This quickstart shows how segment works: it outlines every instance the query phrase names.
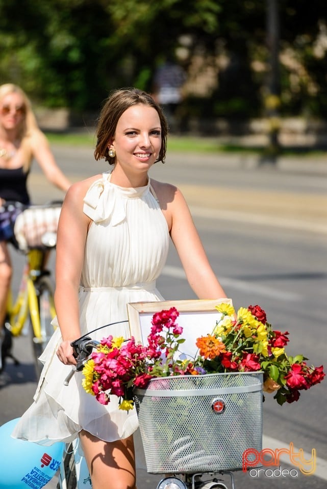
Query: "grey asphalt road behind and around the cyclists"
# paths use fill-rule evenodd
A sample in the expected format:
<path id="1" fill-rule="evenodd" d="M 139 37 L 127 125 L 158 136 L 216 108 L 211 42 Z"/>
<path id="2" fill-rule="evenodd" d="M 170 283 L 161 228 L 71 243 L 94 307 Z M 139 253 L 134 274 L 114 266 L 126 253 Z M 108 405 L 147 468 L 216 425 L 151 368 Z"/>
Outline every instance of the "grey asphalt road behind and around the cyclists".
<path id="1" fill-rule="evenodd" d="M 53 149 L 73 181 L 107 170 L 104 162 L 94 162 L 92 149 Z M 293 162 L 275 169 L 258 167 L 250 158 L 168 153 L 166 164 L 156 164 L 151 176 L 182 189 L 210 262 L 234 305 L 260 304 L 275 329 L 290 332 L 289 354 L 305 354 L 309 363 L 324 364 L 327 369 L 326 171 L 323 165 L 308 167 L 309 163 Z M 37 169 L 31 176 L 31 189 L 39 203 L 61 196 Z M 15 255 L 15 260 L 19 271 L 23 257 Z M 15 273 L 15 287 L 17 280 Z M 173 247 L 158 288 L 167 300 L 195 298 Z M 15 340 L 15 351 L 22 364 L 9 365 L 0 379 L 1 424 L 23 413 L 36 387 L 29 339 Z M 236 473 L 236 487 L 326 487 L 326 394 L 325 380 L 302 392 L 297 403 L 279 406 L 266 396 L 263 405 L 265 448 L 288 450 L 293 443 L 306 459 L 316 450 L 314 475 L 304 476 L 299 470 L 297 477 Z M 137 446 L 139 453 L 139 443 Z M 280 460 L 282 469 L 295 468 L 287 452 Z M 158 480 L 140 468 L 138 478 L 138 486 L 144 489 L 155 487 Z"/>

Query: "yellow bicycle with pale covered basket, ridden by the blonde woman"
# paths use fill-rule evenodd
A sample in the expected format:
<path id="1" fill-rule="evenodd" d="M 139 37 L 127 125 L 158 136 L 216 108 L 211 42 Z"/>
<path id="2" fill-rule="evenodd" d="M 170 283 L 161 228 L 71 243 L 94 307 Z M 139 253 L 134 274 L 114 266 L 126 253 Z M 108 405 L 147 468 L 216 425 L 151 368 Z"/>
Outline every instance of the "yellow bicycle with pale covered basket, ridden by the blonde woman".
<path id="1" fill-rule="evenodd" d="M 10 242 L 26 256 L 26 263 L 16 297 L 12 289 L 9 291 L 3 367 L 6 357 L 11 358 L 16 365 L 19 363 L 11 353 L 12 337 L 30 331 L 37 377 L 42 370 L 38 357 L 54 332 L 51 325 L 56 315 L 54 292 L 51 271 L 46 269 L 46 264 L 49 253 L 56 248 L 61 204 L 56 201 L 45 205 L 20 206 L 15 222 L 12 223 L 14 237 Z M 10 205 L 16 204 L 6 203 L 6 206 Z"/>

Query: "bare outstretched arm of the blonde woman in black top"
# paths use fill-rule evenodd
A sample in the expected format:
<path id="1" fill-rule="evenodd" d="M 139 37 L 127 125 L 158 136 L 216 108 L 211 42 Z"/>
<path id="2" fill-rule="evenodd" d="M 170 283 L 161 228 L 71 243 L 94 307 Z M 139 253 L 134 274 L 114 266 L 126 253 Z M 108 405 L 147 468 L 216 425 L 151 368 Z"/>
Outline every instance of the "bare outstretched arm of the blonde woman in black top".
<path id="1" fill-rule="evenodd" d="M 31 136 L 32 153 L 49 182 L 67 192 L 71 183 L 56 164 L 48 140 L 42 131 L 35 131 Z"/>

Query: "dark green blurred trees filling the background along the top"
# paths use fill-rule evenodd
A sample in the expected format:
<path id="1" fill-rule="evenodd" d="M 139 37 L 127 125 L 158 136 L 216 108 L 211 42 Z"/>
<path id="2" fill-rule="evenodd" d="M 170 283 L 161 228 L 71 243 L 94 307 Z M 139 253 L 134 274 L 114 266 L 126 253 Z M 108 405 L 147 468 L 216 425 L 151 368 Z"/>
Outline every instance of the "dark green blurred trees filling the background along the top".
<path id="1" fill-rule="evenodd" d="M 0 0 L 0 83 L 17 83 L 49 107 L 97 111 L 112 89 L 152 91 L 156 66 L 182 46 L 186 70 L 195 55 L 212 66 L 226 60 L 215 89 L 185 100 L 186 117 L 258 116 L 268 73 L 268 1 Z M 306 0 L 277 3 L 287 53 L 281 112 L 325 116 L 325 2 L 315 0 L 311 9 Z"/>

